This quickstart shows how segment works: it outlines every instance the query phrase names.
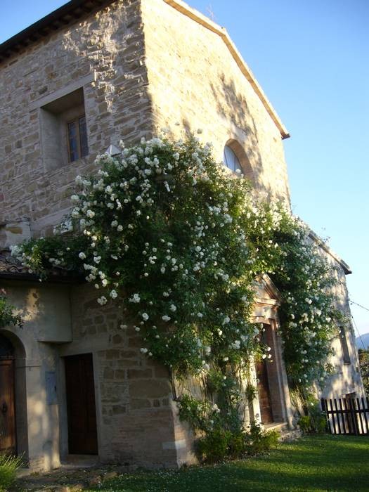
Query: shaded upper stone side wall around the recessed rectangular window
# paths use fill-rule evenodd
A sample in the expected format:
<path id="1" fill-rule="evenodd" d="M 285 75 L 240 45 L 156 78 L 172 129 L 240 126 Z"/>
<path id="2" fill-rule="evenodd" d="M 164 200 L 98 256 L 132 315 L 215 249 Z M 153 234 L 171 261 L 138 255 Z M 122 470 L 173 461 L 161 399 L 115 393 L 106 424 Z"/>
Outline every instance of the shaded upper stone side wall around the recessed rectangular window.
<path id="1" fill-rule="evenodd" d="M 142 27 L 141 2 L 117 0 L 1 63 L 0 224 L 27 217 L 34 235 L 51 233 L 77 174 L 93 172 L 96 155 L 120 138 L 150 134 Z M 79 84 L 89 156 L 47 169 L 40 107 Z"/>

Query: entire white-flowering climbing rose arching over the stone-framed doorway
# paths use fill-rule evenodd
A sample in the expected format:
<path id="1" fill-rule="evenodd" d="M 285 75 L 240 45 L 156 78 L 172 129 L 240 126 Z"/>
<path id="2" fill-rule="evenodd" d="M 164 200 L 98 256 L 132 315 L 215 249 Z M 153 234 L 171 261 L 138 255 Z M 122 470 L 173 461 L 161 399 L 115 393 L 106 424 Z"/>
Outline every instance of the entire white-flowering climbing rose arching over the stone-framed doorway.
<path id="1" fill-rule="evenodd" d="M 221 415 L 240 407 L 250 356 L 268 357 L 252 323 L 254 282 L 267 273 L 281 294 L 292 384 L 325 377 L 334 276 L 282 203 L 254 202 L 247 180 L 214 162 L 211 145 L 193 136 L 141 141 L 122 155 L 98 156 L 96 168 L 77 176 L 74 232 L 14 248 L 23 264 L 42 277 L 56 267 L 83 273 L 99 304 L 123 304 L 143 336 L 141 352 L 176 377 L 202 378 Z"/>

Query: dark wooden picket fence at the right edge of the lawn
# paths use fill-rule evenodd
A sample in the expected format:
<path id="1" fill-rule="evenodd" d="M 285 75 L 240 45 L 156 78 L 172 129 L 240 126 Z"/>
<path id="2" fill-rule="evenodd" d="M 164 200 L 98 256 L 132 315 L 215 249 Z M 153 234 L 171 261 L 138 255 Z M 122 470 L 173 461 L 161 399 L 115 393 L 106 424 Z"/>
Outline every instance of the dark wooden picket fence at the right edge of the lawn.
<path id="1" fill-rule="evenodd" d="M 369 399 L 322 399 L 330 434 L 369 435 Z"/>

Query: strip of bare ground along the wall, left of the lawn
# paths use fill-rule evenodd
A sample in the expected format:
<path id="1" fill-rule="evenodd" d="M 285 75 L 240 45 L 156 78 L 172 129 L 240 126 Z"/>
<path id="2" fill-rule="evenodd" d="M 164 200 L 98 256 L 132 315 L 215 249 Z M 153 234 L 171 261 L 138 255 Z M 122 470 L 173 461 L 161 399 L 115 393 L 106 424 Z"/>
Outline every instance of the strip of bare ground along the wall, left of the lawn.
<path id="1" fill-rule="evenodd" d="M 64 465 L 47 473 L 18 474 L 11 492 L 78 492 L 102 484 L 120 474 L 134 472 L 137 467 L 109 465 L 105 467 L 76 467 Z"/>

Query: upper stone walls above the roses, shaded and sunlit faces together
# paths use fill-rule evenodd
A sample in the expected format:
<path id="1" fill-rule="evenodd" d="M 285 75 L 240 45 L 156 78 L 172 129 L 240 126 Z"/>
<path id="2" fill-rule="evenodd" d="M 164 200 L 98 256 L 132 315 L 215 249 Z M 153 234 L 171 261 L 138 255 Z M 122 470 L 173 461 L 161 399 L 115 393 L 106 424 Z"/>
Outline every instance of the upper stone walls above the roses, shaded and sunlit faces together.
<path id="1" fill-rule="evenodd" d="M 89 155 L 54 169 L 41 108 L 81 87 Z M 166 1 L 114 1 L 4 61 L 0 108 L 0 224 L 27 217 L 33 235 L 63 219 L 98 153 L 162 127 L 201 128 L 219 161 L 238 141 L 258 192 L 289 196 L 280 131 L 228 47 Z"/>

